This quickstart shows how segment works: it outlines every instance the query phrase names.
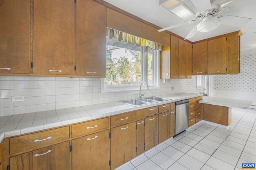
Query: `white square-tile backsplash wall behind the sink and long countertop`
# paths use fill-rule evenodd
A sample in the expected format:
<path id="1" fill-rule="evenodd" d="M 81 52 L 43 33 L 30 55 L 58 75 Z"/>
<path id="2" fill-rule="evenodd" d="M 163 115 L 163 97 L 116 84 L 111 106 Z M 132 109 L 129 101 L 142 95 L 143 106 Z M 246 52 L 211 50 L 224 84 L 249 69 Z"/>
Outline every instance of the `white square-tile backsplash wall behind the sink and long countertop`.
<path id="1" fill-rule="evenodd" d="M 143 91 L 145 96 L 182 92 L 182 80 L 160 81 L 160 89 Z M 0 116 L 136 99 L 138 94 L 100 93 L 100 78 L 0 76 Z M 12 96 L 25 98 L 12 102 Z"/>

